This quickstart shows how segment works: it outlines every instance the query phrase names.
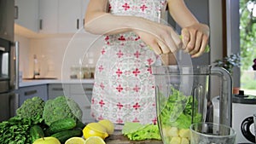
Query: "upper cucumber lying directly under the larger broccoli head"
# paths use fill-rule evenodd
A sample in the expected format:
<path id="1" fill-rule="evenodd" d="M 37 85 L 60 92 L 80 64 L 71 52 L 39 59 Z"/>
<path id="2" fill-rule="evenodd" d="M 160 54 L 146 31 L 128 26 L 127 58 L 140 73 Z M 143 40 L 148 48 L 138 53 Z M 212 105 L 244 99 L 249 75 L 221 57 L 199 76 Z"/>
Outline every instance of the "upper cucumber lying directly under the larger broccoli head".
<path id="1" fill-rule="evenodd" d="M 72 130 L 76 126 L 76 120 L 73 118 L 63 118 L 55 121 L 49 125 L 49 128 L 45 130 L 46 135 L 52 135 L 64 130 Z"/>

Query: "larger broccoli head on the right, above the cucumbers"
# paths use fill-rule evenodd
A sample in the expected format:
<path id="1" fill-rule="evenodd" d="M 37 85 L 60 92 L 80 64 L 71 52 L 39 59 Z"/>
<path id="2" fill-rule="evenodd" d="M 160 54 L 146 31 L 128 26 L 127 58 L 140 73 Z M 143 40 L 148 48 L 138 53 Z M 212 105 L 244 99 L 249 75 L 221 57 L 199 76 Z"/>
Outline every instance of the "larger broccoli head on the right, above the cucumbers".
<path id="1" fill-rule="evenodd" d="M 81 121 L 82 114 L 82 110 L 75 101 L 61 95 L 45 102 L 43 118 L 44 123 L 50 125 L 62 118 L 73 118 L 76 121 Z"/>

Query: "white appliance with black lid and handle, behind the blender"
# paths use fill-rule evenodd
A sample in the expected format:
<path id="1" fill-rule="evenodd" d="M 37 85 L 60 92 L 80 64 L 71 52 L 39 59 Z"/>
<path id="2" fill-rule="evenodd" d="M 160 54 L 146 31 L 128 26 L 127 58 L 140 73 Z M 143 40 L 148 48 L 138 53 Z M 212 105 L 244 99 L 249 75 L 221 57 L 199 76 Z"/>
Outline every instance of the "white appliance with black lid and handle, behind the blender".
<path id="1" fill-rule="evenodd" d="M 255 142 L 253 114 L 256 113 L 256 96 L 244 95 L 244 91 L 239 90 L 239 94 L 232 97 L 232 127 L 236 130 L 237 143 Z M 214 107 L 214 119 L 218 121 L 219 96 L 212 100 Z"/>

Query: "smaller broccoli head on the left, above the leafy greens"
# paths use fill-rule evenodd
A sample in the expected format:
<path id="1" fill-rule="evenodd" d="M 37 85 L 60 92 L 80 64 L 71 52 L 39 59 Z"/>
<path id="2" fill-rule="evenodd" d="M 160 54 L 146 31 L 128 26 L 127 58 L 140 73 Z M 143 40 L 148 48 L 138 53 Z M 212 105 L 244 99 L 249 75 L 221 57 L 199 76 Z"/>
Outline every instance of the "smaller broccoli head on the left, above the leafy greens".
<path id="1" fill-rule="evenodd" d="M 26 99 L 21 107 L 16 110 L 16 114 L 20 118 L 31 118 L 35 123 L 43 121 L 44 100 L 38 96 Z"/>

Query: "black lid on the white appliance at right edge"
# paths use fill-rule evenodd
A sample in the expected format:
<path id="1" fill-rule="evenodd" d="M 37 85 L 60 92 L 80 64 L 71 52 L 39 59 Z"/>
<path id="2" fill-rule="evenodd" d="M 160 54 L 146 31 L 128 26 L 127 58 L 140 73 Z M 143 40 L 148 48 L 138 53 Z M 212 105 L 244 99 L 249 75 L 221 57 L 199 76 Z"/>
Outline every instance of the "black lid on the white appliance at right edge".
<path id="1" fill-rule="evenodd" d="M 239 90 L 239 94 L 233 95 L 234 103 L 256 104 L 256 95 L 244 95 L 243 90 Z"/>

